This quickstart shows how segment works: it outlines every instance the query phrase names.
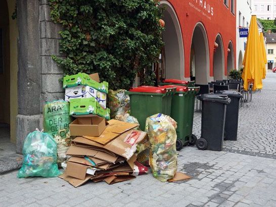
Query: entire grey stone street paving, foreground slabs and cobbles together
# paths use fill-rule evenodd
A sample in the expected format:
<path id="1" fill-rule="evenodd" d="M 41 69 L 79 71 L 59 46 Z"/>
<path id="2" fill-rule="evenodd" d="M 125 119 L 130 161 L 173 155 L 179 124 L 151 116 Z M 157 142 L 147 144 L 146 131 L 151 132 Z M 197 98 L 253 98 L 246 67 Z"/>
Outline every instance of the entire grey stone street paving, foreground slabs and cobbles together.
<path id="1" fill-rule="evenodd" d="M 261 93 L 241 109 L 238 141 L 226 141 L 220 152 L 179 152 L 178 171 L 190 180 L 162 183 L 149 173 L 74 188 L 59 178 L 17 179 L 13 171 L 0 175 L 0 206 L 276 206 L 275 84 L 276 74 L 268 74 Z M 199 135 L 199 113 L 195 122 Z"/>

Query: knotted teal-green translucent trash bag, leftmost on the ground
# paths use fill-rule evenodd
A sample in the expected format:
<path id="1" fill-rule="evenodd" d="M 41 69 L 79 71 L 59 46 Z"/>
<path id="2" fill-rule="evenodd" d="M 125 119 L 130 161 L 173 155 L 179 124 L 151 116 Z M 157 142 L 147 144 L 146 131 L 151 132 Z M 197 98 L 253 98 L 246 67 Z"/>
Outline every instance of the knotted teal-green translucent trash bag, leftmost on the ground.
<path id="1" fill-rule="evenodd" d="M 24 141 L 23 157 L 18 178 L 57 177 L 61 174 L 57 165 L 57 143 L 48 133 L 29 133 Z"/>

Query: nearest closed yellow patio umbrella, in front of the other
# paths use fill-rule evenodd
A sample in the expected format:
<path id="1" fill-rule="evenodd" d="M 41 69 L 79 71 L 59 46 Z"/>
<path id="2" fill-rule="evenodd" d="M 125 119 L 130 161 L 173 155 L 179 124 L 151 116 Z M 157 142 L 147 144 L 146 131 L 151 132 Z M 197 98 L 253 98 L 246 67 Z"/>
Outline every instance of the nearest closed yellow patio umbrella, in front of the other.
<path id="1" fill-rule="evenodd" d="M 249 34 L 247 37 L 246 50 L 243 60 L 244 89 L 248 90 L 248 83 L 253 82 L 253 90 L 262 88 L 263 56 L 261 51 L 260 36 L 257 26 L 256 15 L 251 17 Z"/>

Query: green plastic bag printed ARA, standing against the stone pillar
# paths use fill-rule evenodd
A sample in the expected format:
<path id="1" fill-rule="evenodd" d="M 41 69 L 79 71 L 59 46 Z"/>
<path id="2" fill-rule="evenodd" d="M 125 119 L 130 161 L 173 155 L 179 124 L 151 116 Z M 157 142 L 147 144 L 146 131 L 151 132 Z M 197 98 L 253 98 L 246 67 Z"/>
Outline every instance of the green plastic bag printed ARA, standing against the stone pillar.
<path id="1" fill-rule="evenodd" d="M 44 132 L 55 137 L 62 129 L 69 133 L 69 124 L 73 121 L 69 115 L 69 102 L 64 100 L 55 100 L 47 102 L 43 109 L 43 127 Z M 69 133 L 70 135 L 70 133 Z"/>

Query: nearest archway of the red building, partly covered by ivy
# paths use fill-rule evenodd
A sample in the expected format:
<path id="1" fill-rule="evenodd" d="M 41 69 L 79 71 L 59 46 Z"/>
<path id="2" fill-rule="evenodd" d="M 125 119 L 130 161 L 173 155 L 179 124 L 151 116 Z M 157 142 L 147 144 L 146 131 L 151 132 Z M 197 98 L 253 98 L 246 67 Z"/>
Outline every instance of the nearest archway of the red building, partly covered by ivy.
<path id="1" fill-rule="evenodd" d="M 184 78 L 184 48 L 182 33 L 177 15 L 172 5 L 167 1 L 160 1 L 161 6 L 165 6 L 162 19 L 165 21 L 165 30 L 162 38 L 165 46 L 162 53 L 164 64 L 162 71 L 166 79 Z"/>

